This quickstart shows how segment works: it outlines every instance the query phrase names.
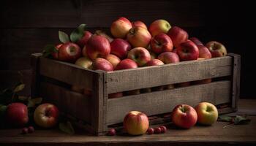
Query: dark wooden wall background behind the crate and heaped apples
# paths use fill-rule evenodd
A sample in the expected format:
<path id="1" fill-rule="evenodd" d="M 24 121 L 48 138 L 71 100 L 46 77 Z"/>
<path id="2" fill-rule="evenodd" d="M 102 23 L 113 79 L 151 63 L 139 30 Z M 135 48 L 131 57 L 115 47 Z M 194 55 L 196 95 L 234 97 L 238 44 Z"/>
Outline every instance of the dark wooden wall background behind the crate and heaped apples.
<path id="1" fill-rule="evenodd" d="M 42 52 L 46 44 L 59 42 L 58 31 L 70 33 L 80 23 L 94 31 L 107 29 L 120 16 L 142 20 L 157 19 L 180 26 L 190 37 L 203 42 L 222 42 L 228 52 L 241 55 L 241 98 L 256 98 L 253 4 L 249 1 L 203 0 L 23 0 L 1 1 L 0 89 L 18 82 L 23 73 L 24 93 L 30 93 L 30 54 Z M 252 36 L 252 37 L 250 37 Z"/>

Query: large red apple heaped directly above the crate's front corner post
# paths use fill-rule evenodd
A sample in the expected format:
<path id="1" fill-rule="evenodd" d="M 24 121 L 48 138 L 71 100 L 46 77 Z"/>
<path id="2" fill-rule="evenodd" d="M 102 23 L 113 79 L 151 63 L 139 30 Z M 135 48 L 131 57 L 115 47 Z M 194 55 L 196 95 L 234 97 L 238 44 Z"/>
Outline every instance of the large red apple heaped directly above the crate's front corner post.
<path id="1" fill-rule="evenodd" d="M 92 36 L 86 44 L 86 54 L 94 60 L 96 58 L 104 58 L 110 54 L 110 43 L 108 39 L 102 36 Z"/>

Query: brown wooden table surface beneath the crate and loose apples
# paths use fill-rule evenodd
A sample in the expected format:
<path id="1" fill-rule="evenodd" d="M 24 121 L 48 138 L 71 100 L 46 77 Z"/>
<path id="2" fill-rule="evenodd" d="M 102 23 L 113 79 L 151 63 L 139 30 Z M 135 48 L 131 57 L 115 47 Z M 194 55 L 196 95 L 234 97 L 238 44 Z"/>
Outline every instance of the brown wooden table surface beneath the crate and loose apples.
<path id="1" fill-rule="evenodd" d="M 217 122 L 214 126 L 194 126 L 189 130 L 168 127 L 165 134 L 138 137 L 119 135 L 94 137 L 85 133 L 64 134 L 59 130 L 37 130 L 22 135 L 20 129 L 0 130 L 0 145 L 256 145 L 256 100 L 241 99 L 235 114 L 247 114 L 248 125 L 229 126 Z"/>

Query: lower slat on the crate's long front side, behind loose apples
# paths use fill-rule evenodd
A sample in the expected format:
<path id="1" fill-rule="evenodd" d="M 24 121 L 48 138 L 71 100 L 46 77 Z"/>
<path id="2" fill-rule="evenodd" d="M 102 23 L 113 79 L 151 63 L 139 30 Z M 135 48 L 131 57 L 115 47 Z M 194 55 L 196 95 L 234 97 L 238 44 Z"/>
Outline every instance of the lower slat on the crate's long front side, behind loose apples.
<path id="1" fill-rule="evenodd" d="M 108 99 L 108 125 L 122 122 L 124 115 L 132 110 L 157 115 L 171 112 L 177 104 L 195 106 L 201 101 L 213 104 L 230 102 L 230 81 L 211 82 L 205 85 L 192 85 L 166 91 L 143 93 L 137 96 L 124 96 Z"/>

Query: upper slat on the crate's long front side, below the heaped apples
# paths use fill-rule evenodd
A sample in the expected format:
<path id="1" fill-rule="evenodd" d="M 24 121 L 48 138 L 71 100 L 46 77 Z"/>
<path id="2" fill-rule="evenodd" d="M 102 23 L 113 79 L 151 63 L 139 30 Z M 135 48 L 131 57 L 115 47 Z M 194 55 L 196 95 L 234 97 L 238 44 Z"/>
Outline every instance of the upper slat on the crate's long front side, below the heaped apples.
<path id="1" fill-rule="evenodd" d="M 108 72 L 108 93 L 224 77 L 231 75 L 231 70 L 232 58 L 225 56 L 203 61 L 184 61 L 177 64 Z"/>

